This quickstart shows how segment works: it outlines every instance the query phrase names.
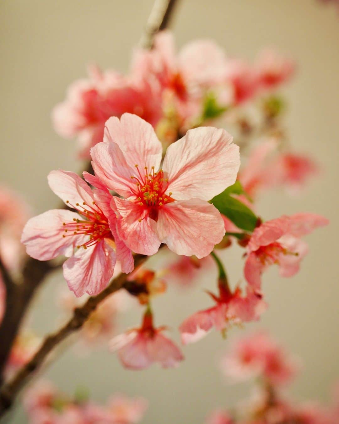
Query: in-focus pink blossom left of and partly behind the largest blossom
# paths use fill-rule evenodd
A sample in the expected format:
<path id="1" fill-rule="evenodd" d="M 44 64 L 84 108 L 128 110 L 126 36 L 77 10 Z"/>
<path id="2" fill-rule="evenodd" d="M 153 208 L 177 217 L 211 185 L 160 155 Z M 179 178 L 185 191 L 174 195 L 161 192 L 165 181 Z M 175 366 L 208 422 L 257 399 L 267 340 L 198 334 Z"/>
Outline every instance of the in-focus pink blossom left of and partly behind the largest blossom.
<path id="1" fill-rule="evenodd" d="M 27 253 L 39 260 L 69 257 L 63 275 L 77 297 L 102 291 L 113 276 L 116 260 L 122 272 L 131 272 L 132 252 L 116 232 L 108 190 L 92 191 L 75 173 L 63 170 L 52 171 L 48 182 L 77 212 L 54 209 L 31 218 L 22 233 Z"/>

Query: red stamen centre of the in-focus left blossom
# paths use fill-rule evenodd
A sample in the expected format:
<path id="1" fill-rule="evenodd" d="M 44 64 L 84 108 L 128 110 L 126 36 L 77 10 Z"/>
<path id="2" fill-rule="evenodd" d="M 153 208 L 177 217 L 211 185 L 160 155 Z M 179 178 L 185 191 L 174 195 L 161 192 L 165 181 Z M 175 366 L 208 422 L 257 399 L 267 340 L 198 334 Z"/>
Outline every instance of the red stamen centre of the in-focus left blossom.
<path id="1" fill-rule="evenodd" d="M 66 203 L 78 212 L 80 218 L 73 218 L 73 222 L 63 223 L 64 232 L 66 233 L 63 234 L 63 237 L 80 234 L 88 235 L 89 240 L 82 245 L 77 245 L 78 249 L 80 249 L 81 246 L 84 249 L 87 249 L 104 238 L 110 239 L 114 242 L 114 237 L 110 231 L 108 220 L 95 201 L 92 202 L 92 205 L 88 205 L 86 202 L 83 202 L 82 205 L 77 203 L 73 206 L 68 200 Z"/>

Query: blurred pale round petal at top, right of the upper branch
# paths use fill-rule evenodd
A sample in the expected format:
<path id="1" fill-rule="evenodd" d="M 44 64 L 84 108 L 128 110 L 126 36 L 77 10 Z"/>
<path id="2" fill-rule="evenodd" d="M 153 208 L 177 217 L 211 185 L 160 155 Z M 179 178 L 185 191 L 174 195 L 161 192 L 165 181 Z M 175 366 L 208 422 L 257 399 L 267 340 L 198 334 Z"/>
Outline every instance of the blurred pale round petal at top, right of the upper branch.
<path id="1" fill-rule="evenodd" d="M 216 86 L 225 74 L 225 54 L 212 40 L 186 44 L 179 53 L 178 62 L 188 84 Z"/>

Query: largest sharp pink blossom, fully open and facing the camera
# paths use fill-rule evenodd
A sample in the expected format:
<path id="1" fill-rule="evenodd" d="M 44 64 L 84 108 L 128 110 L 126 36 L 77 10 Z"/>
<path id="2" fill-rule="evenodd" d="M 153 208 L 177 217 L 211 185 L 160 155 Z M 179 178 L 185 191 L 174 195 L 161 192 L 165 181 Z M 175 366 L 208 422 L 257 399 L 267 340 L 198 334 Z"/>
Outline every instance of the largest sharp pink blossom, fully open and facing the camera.
<path id="1" fill-rule="evenodd" d="M 124 197 L 114 196 L 111 206 L 132 251 L 152 255 L 165 243 L 176 254 L 202 258 L 223 238 L 220 212 L 207 201 L 237 177 L 239 148 L 225 130 L 187 131 L 159 169 L 162 147 L 152 126 L 124 114 L 107 121 L 104 142 L 91 156 L 96 176 Z"/>

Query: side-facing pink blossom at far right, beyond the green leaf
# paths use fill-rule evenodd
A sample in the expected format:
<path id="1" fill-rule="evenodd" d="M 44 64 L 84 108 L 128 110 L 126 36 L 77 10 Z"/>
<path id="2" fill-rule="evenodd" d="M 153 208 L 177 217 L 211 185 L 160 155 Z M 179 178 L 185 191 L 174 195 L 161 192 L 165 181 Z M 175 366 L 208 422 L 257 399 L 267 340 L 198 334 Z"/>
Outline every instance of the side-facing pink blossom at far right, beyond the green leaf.
<path id="1" fill-rule="evenodd" d="M 299 237 L 317 227 L 328 225 L 328 219 L 312 213 L 282 216 L 257 227 L 247 245 L 244 275 L 254 290 L 261 290 L 261 275 L 267 266 L 278 264 L 280 275 L 293 276 L 307 254 L 307 244 Z"/>

